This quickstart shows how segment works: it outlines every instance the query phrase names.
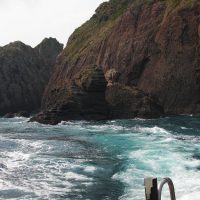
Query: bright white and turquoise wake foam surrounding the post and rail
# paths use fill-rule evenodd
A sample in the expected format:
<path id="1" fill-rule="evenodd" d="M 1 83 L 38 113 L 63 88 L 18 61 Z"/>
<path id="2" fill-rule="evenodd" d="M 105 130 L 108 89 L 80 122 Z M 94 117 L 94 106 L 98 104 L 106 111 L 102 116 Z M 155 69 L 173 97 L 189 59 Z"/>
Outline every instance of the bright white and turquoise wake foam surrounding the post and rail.
<path id="1" fill-rule="evenodd" d="M 127 165 L 123 172 L 113 175 L 114 179 L 120 180 L 126 185 L 126 195 L 120 199 L 141 199 L 141 196 L 144 195 L 143 178 L 148 176 L 159 177 L 159 180 L 166 176 L 171 177 L 175 184 L 178 200 L 200 199 L 200 173 L 196 169 L 200 166 L 200 161 L 188 159 L 191 157 L 190 153 L 182 154 L 177 152 L 176 148 L 169 147 L 169 149 L 166 147 L 162 150 L 162 154 L 165 152 L 164 156 L 158 154 L 159 149 L 156 149 L 156 146 L 154 149 L 143 146 L 140 150 L 129 154 L 130 163 L 132 163 L 131 160 L 134 162 Z M 168 190 L 164 192 L 162 199 L 169 199 Z"/>

